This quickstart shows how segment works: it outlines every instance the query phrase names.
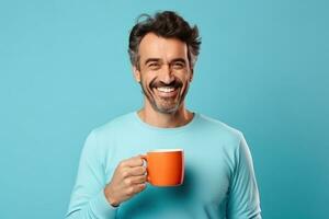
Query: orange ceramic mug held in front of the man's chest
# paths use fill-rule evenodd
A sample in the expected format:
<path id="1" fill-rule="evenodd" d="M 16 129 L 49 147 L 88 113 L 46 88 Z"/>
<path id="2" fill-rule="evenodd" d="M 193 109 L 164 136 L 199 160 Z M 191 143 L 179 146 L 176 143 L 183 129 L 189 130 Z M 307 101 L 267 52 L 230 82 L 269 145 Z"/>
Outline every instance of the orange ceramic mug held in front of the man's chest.
<path id="1" fill-rule="evenodd" d="M 147 182 L 155 186 L 178 186 L 184 180 L 183 149 L 158 149 L 143 155 Z"/>

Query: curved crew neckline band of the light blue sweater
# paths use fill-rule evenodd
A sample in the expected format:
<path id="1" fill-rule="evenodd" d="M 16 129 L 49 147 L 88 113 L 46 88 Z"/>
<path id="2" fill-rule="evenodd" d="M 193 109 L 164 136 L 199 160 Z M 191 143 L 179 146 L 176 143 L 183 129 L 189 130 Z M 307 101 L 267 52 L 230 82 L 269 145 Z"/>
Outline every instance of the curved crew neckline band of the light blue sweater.
<path id="1" fill-rule="evenodd" d="M 193 118 L 185 125 L 183 126 L 179 126 L 179 127 L 173 127 L 173 128 L 161 128 L 161 127 L 157 127 L 157 126 L 152 126 L 148 123 L 145 123 L 139 116 L 138 116 L 138 112 L 135 111 L 133 112 L 133 116 L 135 118 L 135 120 L 143 127 L 149 130 L 156 130 L 156 131 L 162 131 L 162 132 L 178 132 L 178 131 L 183 131 L 183 130 L 188 130 L 190 129 L 193 124 L 196 123 L 196 120 L 198 119 L 200 115 L 198 113 L 193 112 Z"/>

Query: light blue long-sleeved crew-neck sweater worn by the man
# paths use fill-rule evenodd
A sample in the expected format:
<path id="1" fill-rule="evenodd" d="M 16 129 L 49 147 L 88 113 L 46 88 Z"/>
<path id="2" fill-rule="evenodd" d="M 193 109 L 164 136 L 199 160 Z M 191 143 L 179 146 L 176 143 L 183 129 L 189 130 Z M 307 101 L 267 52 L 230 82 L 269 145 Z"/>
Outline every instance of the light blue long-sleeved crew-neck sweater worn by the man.
<path id="1" fill-rule="evenodd" d="M 184 183 L 147 184 L 141 193 L 112 207 L 103 194 L 120 161 L 154 149 L 184 149 Z M 137 113 L 91 131 L 82 150 L 67 219 L 261 218 L 252 159 L 242 134 L 195 113 L 188 125 L 157 128 Z"/>

